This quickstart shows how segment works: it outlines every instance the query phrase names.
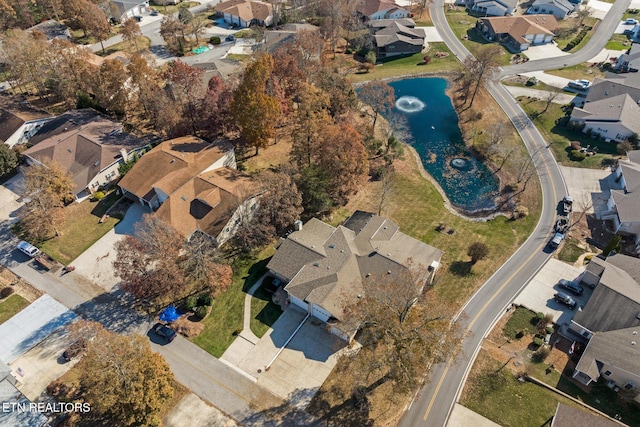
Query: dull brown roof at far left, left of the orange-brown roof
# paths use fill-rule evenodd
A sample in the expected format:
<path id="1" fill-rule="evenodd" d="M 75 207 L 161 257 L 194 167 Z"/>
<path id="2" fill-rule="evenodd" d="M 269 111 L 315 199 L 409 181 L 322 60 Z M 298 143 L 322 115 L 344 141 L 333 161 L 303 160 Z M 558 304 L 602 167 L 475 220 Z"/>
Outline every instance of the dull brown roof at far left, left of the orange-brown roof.
<path id="1" fill-rule="evenodd" d="M 44 128 L 44 127 L 43 127 Z M 40 132 L 38 132 L 40 133 Z M 85 189 L 100 171 L 122 159 L 144 143 L 122 132 L 122 125 L 102 116 L 73 128 L 58 128 L 24 151 L 40 163 L 55 162 L 68 172 L 75 183 L 74 193 Z"/>

